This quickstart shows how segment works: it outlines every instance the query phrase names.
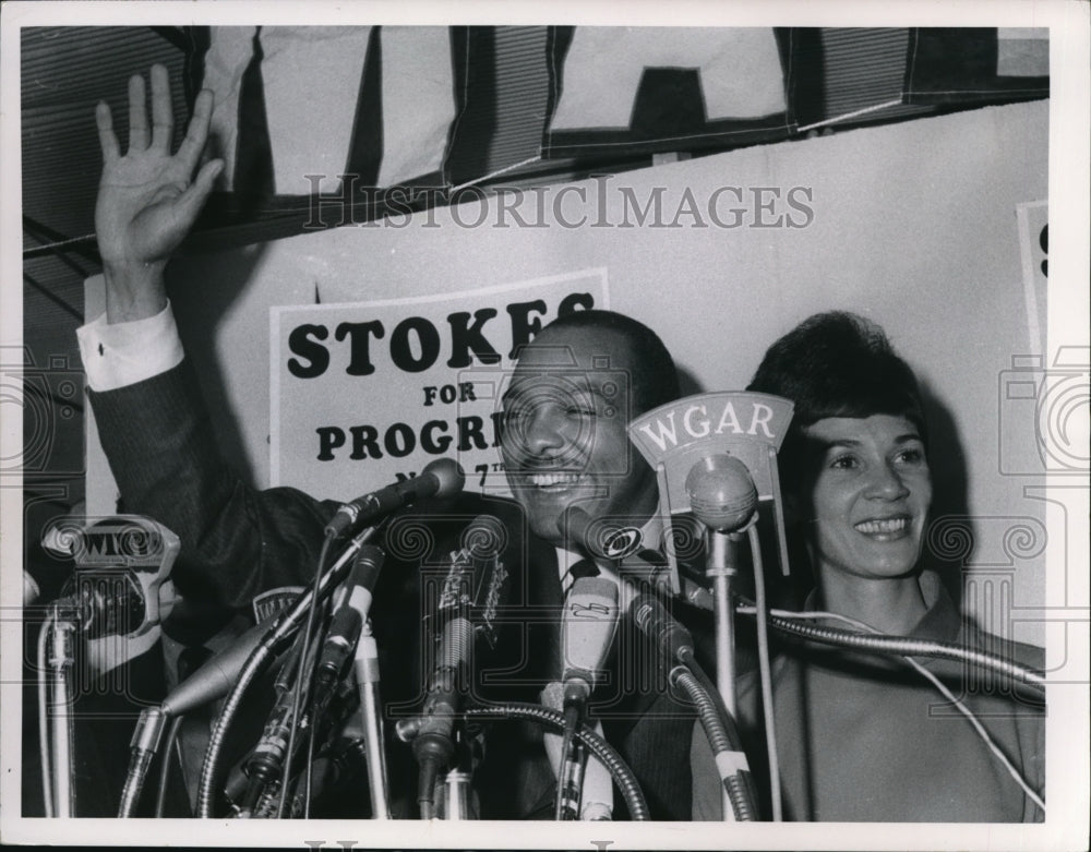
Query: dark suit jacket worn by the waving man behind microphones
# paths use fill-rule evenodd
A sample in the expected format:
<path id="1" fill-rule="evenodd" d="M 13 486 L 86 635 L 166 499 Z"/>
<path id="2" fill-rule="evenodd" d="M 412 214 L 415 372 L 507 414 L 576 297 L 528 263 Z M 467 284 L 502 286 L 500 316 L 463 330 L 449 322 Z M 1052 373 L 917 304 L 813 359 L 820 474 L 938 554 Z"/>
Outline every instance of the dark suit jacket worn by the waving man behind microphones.
<path id="1" fill-rule="evenodd" d="M 291 488 L 247 487 L 220 457 L 188 362 L 145 382 L 89 396 L 124 511 L 155 518 L 181 540 L 173 580 L 187 604 L 166 625 L 171 635 L 201 640 L 230 611 L 249 608 L 255 595 L 313 577 L 322 529 L 339 504 Z M 512 532 L 502 555 L 509 578 L 501 604 L 500 640 L 476 660 L 471 699 L 536 701 L 541 687 L 560 673 L 556 613 L 562 600 L 553 548 L 529 533 L 512 501 L 466 493 L 453 501 L 427 502 L 413 517 L 428 530 L 429 547 L 405 552 L 404 541 L 389 540 L 392 532 L 374 593 L 372 622 L 388 717 L 410 715 L 422 697 L 420 563 L 442 560 L 456 549 L 458 533 L 483 513 L 499 517 Z M 400 529 L 411 523 L 403 521 Z M 599 700 L 607 736 L 635 771 L 652 817 L 688 819 L 692 708 L 669 694 L 658 655 L 627 619 L 615 647 L 611 671 L 616 676 L 604 684 Z M 551 803 L 552 775 L 535 744 L 538 739 L 537 732 L 517 723 L 490 731 L 476 775 L 483 817 L 541 815 Z M 411 802 L 411 768 L 399 760 L 408 751 L 392 742 L 387 755 L 392 794 L 404 784 L 401 792 Z"/>

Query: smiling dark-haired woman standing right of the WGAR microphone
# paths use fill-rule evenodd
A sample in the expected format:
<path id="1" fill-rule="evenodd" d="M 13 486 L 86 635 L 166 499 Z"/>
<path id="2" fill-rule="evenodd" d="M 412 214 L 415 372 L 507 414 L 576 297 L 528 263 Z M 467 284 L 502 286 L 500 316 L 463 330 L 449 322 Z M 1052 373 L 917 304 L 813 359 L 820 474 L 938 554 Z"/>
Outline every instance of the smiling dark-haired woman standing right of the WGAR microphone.
<path id="1" fill-rule="evenodd" d="M 795 405 L 780 454 L 786 526 L 814 574 L 805 608 L 829 614 L 819 623 L 843 627 L 835 616 L 847 616 L 886 634 L 1000 650 L 1041 669 L 1040 649 L 963 623 L 922 565 L 933 494 L 926 423 L 913 372 L 882 328 L 848 313 L 812 316 L 769 348 L 748 389 Z M 899 659 L 801 640 L 777 652 L 772 703 L 787 819 L 1044 817 L 1043 708 L 1010 680 L 928 661 L 958 696 L 945 700 Z M 740 679 L 738 693 L 740 725 L 755 746 L 763 729 L 755 679 Z M 759 751 L 752 747 L 751 760 L 768 790 Z M 719 817 L 709 794 L 716 788 L 702 781 L 714 771 L 710 759 L 695 740 L 698 819 Z"/>

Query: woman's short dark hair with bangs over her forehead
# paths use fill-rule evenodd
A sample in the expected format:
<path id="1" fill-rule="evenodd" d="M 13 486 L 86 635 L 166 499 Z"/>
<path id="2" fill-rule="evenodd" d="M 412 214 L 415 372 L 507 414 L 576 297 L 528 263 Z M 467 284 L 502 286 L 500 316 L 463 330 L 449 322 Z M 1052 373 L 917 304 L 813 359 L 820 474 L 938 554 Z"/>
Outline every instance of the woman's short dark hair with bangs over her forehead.
<path id="1" fill-rule="evenodd" d="M 792 431 L 827 417 L 904 417 L 926 441 L 916 376 L 883 328 L 844 311 L 804 320 L 762 359 L 750 391 L 795 405 Z"/>

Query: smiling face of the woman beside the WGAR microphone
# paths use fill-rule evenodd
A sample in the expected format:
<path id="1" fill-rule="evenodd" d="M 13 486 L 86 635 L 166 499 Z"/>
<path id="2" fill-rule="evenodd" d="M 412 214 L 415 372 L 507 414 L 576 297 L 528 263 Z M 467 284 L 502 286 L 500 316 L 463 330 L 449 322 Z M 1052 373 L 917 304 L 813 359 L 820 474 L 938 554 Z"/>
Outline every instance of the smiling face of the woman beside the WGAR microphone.
<path id="1" fill-rule="evenodd" d="M 804 439 L 817 471 L 807 518 L 819 577 L 911 573 L 932 503 L 916 427 L 890 415 L 831 417 L 805 428 Z"/>

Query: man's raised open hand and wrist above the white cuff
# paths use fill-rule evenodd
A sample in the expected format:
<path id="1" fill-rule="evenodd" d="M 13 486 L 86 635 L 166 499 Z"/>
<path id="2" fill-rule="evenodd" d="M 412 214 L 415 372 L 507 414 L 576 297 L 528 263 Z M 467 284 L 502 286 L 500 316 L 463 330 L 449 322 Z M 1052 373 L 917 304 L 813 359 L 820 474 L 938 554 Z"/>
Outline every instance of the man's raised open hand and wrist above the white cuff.
<path id="1" fill-rule="evenodd" d="M 182 241 L 224 167 L 211 160 L 191 181 L 204 149 L 213 96 L 202 92 L 178 152 L 171 155 L 173 112 L 167 69 L 152 67 L 152 128 L 144 79 L 129 80 L 129 149 L 121 155 L 110 108 L 95 110 L 103 148 L 103 178 L 95 229 L 106 276 L 107 320 L 123 322 L 158 313 L 166 303 L 163 269 Z"/>

